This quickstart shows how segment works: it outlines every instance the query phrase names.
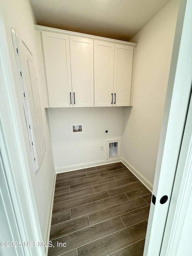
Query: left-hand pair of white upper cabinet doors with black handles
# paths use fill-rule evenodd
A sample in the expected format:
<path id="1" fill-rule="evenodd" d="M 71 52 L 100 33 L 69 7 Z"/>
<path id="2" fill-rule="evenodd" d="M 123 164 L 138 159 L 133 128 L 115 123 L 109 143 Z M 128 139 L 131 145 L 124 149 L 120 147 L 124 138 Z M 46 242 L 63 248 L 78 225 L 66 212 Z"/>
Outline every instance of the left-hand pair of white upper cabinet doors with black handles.
<path id="1" fill-rule="evenodd" d="M 93 107 L 93 40 L 42 31 L 49 107 Z"/>

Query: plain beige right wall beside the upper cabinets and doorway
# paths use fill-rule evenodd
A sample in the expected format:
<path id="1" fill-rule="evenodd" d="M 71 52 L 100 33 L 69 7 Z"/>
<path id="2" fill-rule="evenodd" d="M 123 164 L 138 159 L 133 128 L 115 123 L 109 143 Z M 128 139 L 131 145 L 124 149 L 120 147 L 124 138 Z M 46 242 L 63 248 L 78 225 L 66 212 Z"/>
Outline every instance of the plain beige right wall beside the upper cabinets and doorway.
<path id="1" fill-rule="evenodd" d="M 170 1 L 134 38 L 133 107 L 125 108 L 122 157 L 153 184 L 178 1 Z"/>

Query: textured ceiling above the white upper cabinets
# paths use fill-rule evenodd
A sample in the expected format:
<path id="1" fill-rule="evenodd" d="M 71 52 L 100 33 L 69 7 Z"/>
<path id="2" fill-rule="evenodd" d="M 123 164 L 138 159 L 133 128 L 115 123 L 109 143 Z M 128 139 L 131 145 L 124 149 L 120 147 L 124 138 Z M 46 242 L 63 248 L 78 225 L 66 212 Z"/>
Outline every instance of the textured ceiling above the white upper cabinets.
<path id="1" fill-rule="evenodd" d="M 129 41 L 170 0 L 30 0 L 38 25 Z"/>

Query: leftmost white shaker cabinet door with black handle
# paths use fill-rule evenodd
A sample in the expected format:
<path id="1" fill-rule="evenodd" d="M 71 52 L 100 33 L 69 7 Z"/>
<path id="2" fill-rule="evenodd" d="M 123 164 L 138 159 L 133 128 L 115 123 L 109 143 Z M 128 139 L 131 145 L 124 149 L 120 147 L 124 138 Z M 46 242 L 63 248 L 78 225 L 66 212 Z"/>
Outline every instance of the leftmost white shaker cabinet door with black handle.
<path id="1" fill-rule="evenodd" d="M 49 107 L 73 106 L 69 36 L 42 31 L 42 39 Z"/>

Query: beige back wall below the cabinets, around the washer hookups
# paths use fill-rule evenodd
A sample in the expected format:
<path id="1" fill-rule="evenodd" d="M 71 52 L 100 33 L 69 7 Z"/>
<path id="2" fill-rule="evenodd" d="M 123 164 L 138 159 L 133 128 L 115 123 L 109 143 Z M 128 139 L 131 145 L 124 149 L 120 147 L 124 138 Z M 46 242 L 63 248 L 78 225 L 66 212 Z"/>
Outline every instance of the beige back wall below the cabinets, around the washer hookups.
<path id="1" fill-rule="evenodd" d="M 55 168 L 106 160 L 106 140 L 123 136 L 123 107 L 49 108 L 48 113 Z M 72 134 L 71 124 L 78 123 L 83 133 Z"/>

